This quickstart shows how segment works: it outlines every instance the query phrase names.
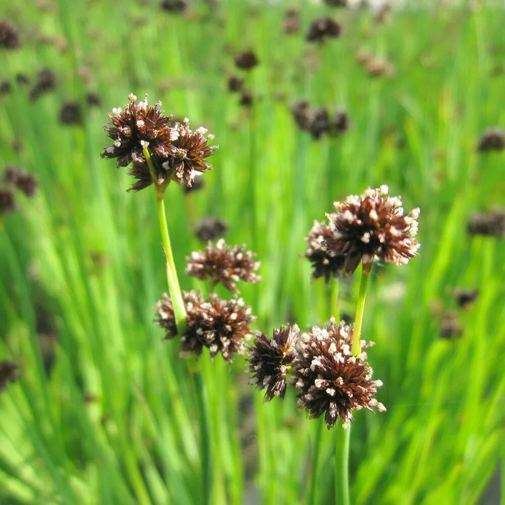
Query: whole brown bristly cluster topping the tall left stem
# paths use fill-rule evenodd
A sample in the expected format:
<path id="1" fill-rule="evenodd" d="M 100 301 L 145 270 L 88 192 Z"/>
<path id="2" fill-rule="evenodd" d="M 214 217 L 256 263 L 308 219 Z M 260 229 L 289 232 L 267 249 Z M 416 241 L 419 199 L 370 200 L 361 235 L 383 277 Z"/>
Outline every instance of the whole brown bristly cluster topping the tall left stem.
<path id="1" fill-rule="evenodd" d="M 129 95 L 129 104 L 122 109 L 113 109 L 108 116 L 112 125 L 104 125 L 107 134 L 114 140 L 102 153 L 102 158 L 117 158 L 117 167 L 133 165 L 128 171 L 137 182 L 130 190 L 140 190 L 153 183 L 143 149 L 147 148 L 156 172 L 157 184 L 170 180 L 184 181 L 191 186 L 195 173 L 211 170 L 205 160 L 212 155 L 217 145 L 208 145 L 214 138 L 200 127 L 189 128 L 187 118 L 173 121 L 173 116 L 164 116 L 161 102 L 149 106 L 147 96 L 141 102 Z"/>

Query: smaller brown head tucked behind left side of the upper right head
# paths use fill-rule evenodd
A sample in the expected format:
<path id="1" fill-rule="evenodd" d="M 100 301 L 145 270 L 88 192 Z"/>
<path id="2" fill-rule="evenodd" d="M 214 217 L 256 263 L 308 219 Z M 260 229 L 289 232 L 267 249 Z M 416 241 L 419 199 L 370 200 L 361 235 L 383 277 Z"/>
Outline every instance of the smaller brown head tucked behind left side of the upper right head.
<path id="1" fill-rule="evenodd" d="M 329 282 L 332 277 L 338 277 L 343 268 L 345 258 L 336 255 L 331 249 L 323 245 L 327 239 L 332 237 L 333 229 L 329 225 L 324 221 L 321 223 L 314 222 L 314 226 L 307 237 L 309 248 L 305 254 L 314 269 L 312 272 L 313 279 L 324 276 L 325 281 Z"/>

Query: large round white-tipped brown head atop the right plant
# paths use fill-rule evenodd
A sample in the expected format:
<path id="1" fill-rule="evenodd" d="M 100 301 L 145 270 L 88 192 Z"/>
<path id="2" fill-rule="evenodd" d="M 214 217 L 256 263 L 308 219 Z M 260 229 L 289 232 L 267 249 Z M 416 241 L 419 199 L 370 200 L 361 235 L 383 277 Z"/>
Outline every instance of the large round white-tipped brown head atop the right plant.
<path id="1" fill-rule="evenodd" d="M 324 241 L 328 254 L 344 257 L 343 269 L 352 273 L 360 262 L 371 266 L 378 258 L 403 265 L 417 255 L 419 209 L 403 214 L 400 196 L 388 196 L 388 187 L 368 188 L 361 196 L 350 195 L 334 203 L 327 214 L 333 236 Z"/>

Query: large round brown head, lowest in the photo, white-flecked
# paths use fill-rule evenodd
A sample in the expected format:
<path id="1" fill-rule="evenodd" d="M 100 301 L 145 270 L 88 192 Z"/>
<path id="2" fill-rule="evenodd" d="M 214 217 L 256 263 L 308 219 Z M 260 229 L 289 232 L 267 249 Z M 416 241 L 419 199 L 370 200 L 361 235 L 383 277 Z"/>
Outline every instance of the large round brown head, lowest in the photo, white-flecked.
<path id="1" fill-rule="evenodd" d="M 306 409 L 310 419 L 324 414 L 328 429 L 339 417 L 344 428 L 348 427 L 354 410 L 386 410 L 374 398 L 382 382 L 371 380 L 373 370 L 366 352 L 351 354 L 352 332 L 352 326 L 343 321 L 337 325 L 332 319 L 326 328 L 314 327 L 298 340 L 298 355 L 292 365 L 295 386 L 301 390 L 298 406 Z"/>

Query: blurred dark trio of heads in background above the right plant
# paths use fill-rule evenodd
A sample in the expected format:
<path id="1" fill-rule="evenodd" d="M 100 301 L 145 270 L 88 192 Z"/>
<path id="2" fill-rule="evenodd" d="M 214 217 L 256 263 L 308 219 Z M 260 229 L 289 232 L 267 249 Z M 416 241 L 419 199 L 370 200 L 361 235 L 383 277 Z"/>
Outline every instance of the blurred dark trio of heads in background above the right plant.
<path id="1" fill-rule="evenodd" d="M 315 140 L 323 135 L 339 136 L 349 129 L 349 116 L 343 109 L 330 114 L 325 107 L 311 107 L 301 100 L 291 107 L 294 120 L 300 129 L 308 131 Z"/>

